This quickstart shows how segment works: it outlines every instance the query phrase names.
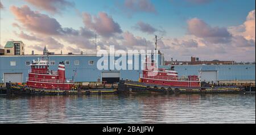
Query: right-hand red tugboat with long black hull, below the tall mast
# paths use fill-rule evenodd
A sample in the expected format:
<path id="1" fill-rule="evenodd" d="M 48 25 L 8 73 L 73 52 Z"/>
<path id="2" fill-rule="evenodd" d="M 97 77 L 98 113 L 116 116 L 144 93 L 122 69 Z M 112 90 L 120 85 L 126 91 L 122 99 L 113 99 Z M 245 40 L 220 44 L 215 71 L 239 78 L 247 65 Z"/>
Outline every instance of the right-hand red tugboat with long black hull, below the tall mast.
<path id="1" fill-rule="evenodd" d="M 201 86 L 201 84 L 203 84 Z M 118 83 L 119 93 L 179 93 L 179 94 L 202 94 L 202 93 L 241 93 L 244 88 L 237 86 L 205 85 L 197 75 L 178 77 L 174 66 L 171 69 L 158 69 L 154 61 L 146 58 L 139 81 L 121 80 Z"/>

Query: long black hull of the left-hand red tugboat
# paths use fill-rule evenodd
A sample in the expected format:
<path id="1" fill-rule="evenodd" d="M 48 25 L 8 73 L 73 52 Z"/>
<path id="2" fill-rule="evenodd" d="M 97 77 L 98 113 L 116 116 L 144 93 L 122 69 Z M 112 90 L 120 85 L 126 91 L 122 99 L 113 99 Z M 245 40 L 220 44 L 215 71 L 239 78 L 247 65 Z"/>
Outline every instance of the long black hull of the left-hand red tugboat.
<path id="1" fill-rule="evenodd" d="M 29 88 L 15 83 L 6 83 L 7 95 L 91 95 L 91 94 L 115 94 L 113 88 L 94 90 L 45 90 Z"/>

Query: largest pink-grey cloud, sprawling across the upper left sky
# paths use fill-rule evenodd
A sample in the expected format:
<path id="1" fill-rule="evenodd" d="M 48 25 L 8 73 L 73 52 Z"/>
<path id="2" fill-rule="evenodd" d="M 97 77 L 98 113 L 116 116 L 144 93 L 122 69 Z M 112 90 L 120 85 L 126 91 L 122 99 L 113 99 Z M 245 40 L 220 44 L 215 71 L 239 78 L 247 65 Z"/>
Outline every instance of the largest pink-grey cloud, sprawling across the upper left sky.
<path id="1" fill-rule="evenodd" d="M 21 33 L 16 35 L 23 39 L 38 40 L 37 37 L 40 37 L 44 44 L 51 45 L 49 49 L 59 49 L 63 47 L 63 44 L 59 43 L 55 39 L 66 41 L 69 44 L 75 44 L 77 47 L 82 49 L 92 48 L 89 40 L 94 37 L 95 34 L 85 27 L 80 27 L 78 30 L 73 28 L 63 28 L 56 19 L 50 18 L 46 14 L 41 14 L 38 11 L 32 11 L 26 5 L 20 8 L 11 6 L 10 10 L 22 26 L 19 26 L 18 23 L 13 23 L 14 27 L 22 30 Z M 108 24 L 108 22 L 101 25 L 105 24 Z M 33 33 L 34 36 L 27 35 L 23 31 Z"/>

